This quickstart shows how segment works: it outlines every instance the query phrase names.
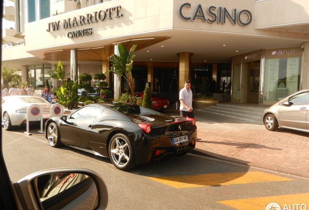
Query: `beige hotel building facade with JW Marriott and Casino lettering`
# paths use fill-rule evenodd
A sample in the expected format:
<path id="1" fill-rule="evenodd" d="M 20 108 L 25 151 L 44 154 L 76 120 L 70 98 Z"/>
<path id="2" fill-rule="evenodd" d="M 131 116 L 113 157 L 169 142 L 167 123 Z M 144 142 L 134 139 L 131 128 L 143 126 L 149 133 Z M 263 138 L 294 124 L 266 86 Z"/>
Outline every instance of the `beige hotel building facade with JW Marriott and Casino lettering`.
<path id="1" fill-rule="evenodd" d="M 226 83 L 231 102 L 271 105 L 309 88 L 308 0 L 15 0 L 12 16 L 2 67 L 35 87 L 59 85 L 47 73 L 59 60 L 73 80 L 105 72 L 121 43 L 137 45 L 136 91 L 148 82 L 177 98 L 185 80 L 197 89 L 207 77 L 213 93 Z"/>

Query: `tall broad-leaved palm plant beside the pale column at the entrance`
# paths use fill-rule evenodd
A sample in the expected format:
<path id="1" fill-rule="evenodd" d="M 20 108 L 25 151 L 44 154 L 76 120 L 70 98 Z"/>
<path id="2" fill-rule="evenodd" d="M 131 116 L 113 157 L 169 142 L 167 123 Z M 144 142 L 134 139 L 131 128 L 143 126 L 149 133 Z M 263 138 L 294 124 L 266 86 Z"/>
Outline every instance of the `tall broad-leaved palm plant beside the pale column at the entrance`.
<path id="1" fill-rule="evenodd" d="M 107 72 L 114 72 L 119 76 L 123 76 L 125 80 L 128 82 L 132 95 L 134 95 L 134 78 L 132 76 L 133 69 L 133 58 L 135 55 L 133 54 L 137 45 L 133 45 L 130 49 L 130 52 L 125 49 L 122 44 L 118 45 L 119 56 L 116 54 L 111 55 L 108 60 L 112 62 L 111 70 L 107 70 Z"/>

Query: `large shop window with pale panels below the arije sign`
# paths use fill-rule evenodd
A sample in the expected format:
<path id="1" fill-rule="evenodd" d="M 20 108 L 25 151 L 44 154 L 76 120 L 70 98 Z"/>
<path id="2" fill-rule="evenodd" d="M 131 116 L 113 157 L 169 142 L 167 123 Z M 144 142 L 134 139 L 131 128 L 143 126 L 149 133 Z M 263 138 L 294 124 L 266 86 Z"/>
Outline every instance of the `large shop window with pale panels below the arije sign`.
<path id="1" fill-rule="evenodd" d="M 300 57 L 266 59 L 264 101 L 280 101 L 299 90 Z"/>

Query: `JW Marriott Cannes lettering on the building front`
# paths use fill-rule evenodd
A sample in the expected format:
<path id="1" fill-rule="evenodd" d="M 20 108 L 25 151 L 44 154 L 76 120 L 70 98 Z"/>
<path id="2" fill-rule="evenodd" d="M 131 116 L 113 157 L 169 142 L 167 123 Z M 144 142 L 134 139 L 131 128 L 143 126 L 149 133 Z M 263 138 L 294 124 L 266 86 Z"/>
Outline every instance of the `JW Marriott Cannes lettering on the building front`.
<path id="1" fill-rule="evenodd" d="M 67 29 L 67 28 L 73 28 L 76 26 L 86 25 L 89 23 L 103 21 L 106 18 L 107 19 L 112 19 L 113 17 L 119 18 L 119 17 L 122 17 L 122 14 L 120 13 L 121 9 L 122 9 L 121 6 L 111 7 L 106 10 L 100 10 L 100 11 L 93 12 L 92 14 L 88 13 L 86 15 L 80 15 L 78 17 L 64 19 L 62 21 L 62 24 L 60 23 L 60 20 L 55 21 L 55 22 L 50 22 L 48 23 L 48 29 L 46 31 L 47 32 L 57 31 L 59 30 L 60 25 L 62 25 L 63 29 Z M 75 37 L 80 37 L 80 36 L 85 36 L 85 35 L 92 35 L 92 32 L 93 32 L 92 28 L 87 28 L 87 29 L 68 32 L 67 37 L 75 38 Z"/>

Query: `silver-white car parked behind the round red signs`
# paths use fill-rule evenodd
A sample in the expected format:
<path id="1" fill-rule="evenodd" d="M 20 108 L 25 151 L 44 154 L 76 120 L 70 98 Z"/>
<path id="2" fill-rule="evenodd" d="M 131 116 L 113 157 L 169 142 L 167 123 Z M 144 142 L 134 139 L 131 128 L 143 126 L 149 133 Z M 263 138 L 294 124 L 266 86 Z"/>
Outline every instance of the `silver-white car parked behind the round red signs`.
<path id="1" fill-rule="evenodd" d="M 43 108 L 43 119 L 50 118 L 51 104 L 35 96 L 6 96 L 2 98 L 2 124 L 5 130 L 12 130 L 27 122 L 27 108 L 37 104 Z"/>

